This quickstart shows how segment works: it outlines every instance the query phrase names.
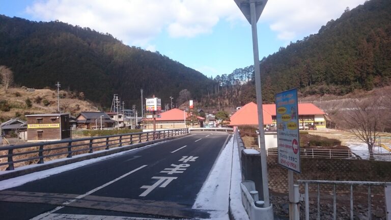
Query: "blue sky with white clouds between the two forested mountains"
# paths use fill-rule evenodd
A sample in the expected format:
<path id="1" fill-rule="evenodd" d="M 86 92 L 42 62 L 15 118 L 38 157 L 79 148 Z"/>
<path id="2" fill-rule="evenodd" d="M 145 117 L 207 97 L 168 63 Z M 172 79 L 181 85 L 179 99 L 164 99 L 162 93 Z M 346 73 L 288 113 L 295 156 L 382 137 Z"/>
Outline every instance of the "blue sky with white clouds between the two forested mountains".
<path id="1" fill-rule="evenodd" d="M 364 2 L 269 0 L 257 24 L 260 60 Z M 0 0 L 0 14 L 109 33 L 208 77 L 254 64 L 251 26 L 234 0 Z"/>

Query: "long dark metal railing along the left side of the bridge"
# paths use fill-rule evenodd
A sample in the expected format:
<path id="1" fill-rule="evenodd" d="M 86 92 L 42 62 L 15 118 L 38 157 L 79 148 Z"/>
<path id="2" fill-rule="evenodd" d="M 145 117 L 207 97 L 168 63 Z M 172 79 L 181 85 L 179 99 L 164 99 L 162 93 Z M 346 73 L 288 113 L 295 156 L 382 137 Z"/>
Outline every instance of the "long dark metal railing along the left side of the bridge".
<path id="1" fill-rule="evenodd" d="M 93 153 L 94 150 L 109 150 L 114 147 L 133 145 L 156 139 L 188 133 L 187 129 L 173 129 L 106 136 L 86 137 L 74 140 L 51 142 L 35 142 L 22 145 L 0 147 L 0 166 L 7 166 L 7 171 L 14 170 L 15 163 L 30 162 L 44 163 L 46 158 L 72 157 L 75 153 Z M 15 152 L 16 151 L 16 152 Z M 7 162 L 2 162 L 7 158 Z"/>

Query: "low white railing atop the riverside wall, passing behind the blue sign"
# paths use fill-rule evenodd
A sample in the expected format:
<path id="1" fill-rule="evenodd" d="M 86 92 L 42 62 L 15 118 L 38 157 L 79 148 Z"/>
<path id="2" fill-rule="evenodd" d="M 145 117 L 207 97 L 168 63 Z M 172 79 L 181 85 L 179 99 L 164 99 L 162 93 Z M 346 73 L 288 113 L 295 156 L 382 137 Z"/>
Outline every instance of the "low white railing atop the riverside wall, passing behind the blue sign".
<path id="1" fill-rule="evenodd" d="M 259 148 L 250 148 L 259 150 Z M 367 155 L 367 150 L 332 150 L 332 149 L 300 149 L 300 156 L 306 158 L 333 158 L 333 159 L 361 159 L 360 155 Z M 276 148 L 266 149 L 266 155 L 278 155 Z M 381 156 L 391 160 L 391 152 L 382 153 Z"/>

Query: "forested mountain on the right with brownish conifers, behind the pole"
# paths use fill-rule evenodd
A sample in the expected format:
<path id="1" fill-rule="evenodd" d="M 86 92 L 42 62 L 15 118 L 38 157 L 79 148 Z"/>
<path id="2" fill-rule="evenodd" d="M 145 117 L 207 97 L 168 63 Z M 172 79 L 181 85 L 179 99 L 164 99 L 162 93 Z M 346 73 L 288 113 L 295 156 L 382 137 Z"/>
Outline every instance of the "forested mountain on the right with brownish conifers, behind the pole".
<path id="1" fill-rule="evenodd" d="M 390 85 L 391 1 L 371 0 L 347 8 L 318 34 L 263 58 L 260 68 L 265 102 L 273 102 L 275 93 L 291 88 L 298 88 L 303 96 L 345 95 Z M 237 106 L 255 101 L 253 69 L 239 68 L 214 78 L 215 84 L 208 89 L 212 98 L 205 98 L 205 104 L 222 100 L 220 105 Z"/>

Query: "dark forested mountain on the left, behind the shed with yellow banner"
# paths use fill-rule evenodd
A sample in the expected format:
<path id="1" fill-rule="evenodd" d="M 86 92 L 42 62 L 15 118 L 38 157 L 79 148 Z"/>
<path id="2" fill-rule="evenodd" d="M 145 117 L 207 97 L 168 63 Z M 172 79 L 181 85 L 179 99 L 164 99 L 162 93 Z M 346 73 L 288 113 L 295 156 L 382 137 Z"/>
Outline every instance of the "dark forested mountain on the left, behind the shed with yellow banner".
<path id="1" fill-rule="evenodd" d="M 144 97 L 155 94 L 164 104 L 183 89 L 197 98 L 211 83 L 198 71 L 158 52 L 126 46 L 107 33 L 4 15 L 0 15 L 0 65 L 11 68 L 16 85 L 55 88 L 60 81 L 62 89 L 83 92 L 108 107 L 113 94 L 139 109 L 142 88 Z"/>

